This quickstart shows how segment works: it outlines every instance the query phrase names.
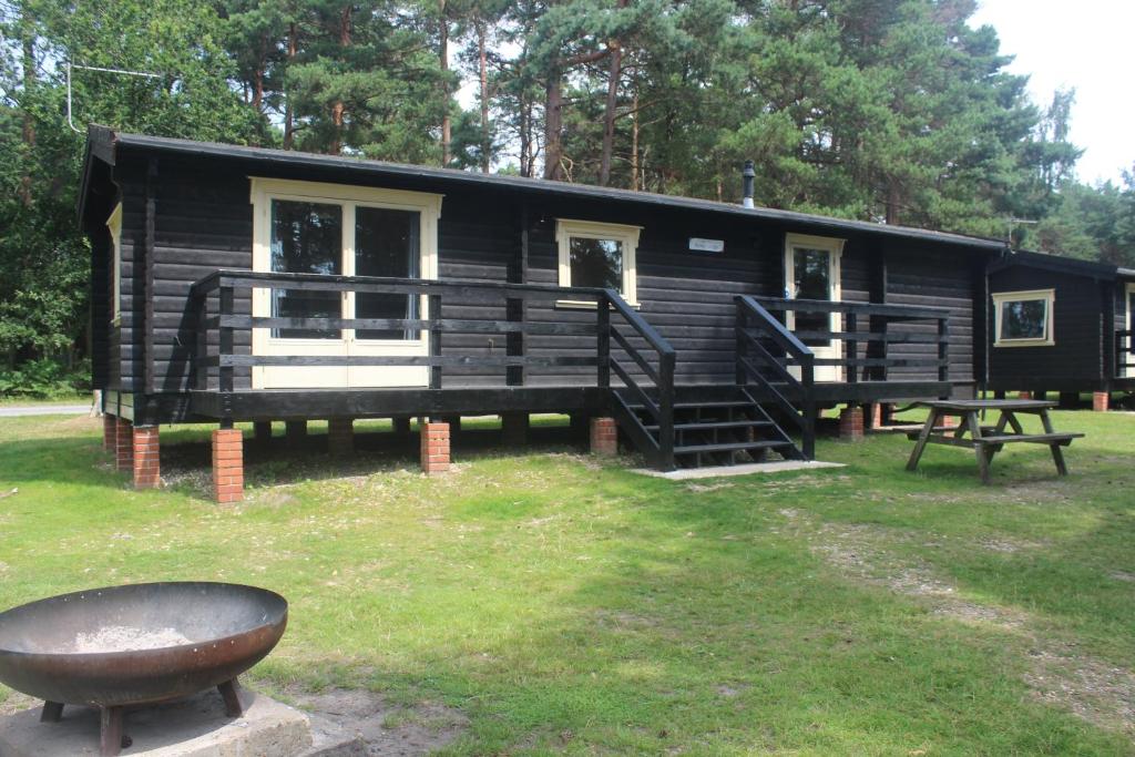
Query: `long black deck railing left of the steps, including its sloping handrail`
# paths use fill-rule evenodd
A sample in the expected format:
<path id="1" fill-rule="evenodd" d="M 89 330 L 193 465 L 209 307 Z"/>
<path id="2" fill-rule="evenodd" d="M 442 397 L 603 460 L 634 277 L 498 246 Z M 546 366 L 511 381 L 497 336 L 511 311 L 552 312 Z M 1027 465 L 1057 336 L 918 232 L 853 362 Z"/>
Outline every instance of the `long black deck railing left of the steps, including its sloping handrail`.
<path id="1" fill-rule="evenodd" d="M 333 292 L 354 294 L 394 294 L 424 296 L 424 317 L 412 318 L 286 318 L 252 316 L 236 312 L 238 292 L 274 289 L 287 292 Z M 504 284 L 469 280 L 431 280 L 381 278 L 368 276 L 329 276 L 318 274 L 275 274 L 244 270 L 218 270 L 196 281 L 191 291 L 196 312 L 197 335 L 194 354 L 194 387 L 209 385 L 209 370 L 217 370 L 216 389 L 233 392 L 237 368 L 264 365 L 280 367 L 376 367 L 419 365 L 429 368 L 429 388 L 445 386 L 447 368 L 504 369 L 508 384 L 522 384 L 523 377 L 510 371 L 526 368 L 594 368 L 594 385 L 612 386 L 612 373 L 629 394 L 641 398 L 647 413 L 658 427 L 650 435 L 647 451 L 663 461 L 673 460 L 673 402 L 674 365 L 676 353 L 639 313 L 614 289 L 592 287 L 560 287 L 540 284 Z M 568 300 L 573 305 L 595 303 L 590 319 L 529 320 L 524 308 L 513 308 L 518 302 Z M 504 319 L 444 318 L 446 302 L 457 305 L 503 308 Z M 210 308 L 210 303 L 212 308 Z M 586 311 L 585 311 L 586 312 Z M 420 331 L 428 336 L 429 350 L 424 355 L 258 355 L 238 354 L 236 334 L 252 329 L 325 329 L 325 330 L 396 330 Z M 484 334 L 505 335 L 506 354 L 445 354 L 443 335 Z M 213 336 L 216 338 L 213 338 Z M 514 339 L 513 337 L 520 337 Z M 594 353 L 529 354 L 527 337 L 581 337 L 594 345 Z M 574 346 L 578 347 L 579 340 Z M 550 350 L 553 353 L 555 350 Z M 549 352 L 548 348 L 543 350 Z M 564 351 L 570 352 L 570 350 Z M 586 382 L 586 377 L 581 377 Z M 633 432 L 633 431 L 632 431 Z M 641 448 L 641 447 L 640 447 Z"/>

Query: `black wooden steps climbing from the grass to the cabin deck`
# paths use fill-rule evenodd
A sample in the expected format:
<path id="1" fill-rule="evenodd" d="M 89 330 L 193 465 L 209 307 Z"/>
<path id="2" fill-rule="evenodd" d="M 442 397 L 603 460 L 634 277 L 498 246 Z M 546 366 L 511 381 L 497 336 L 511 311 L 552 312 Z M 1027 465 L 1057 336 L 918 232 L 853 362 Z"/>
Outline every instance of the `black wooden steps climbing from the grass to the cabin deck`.
<path id="1" fill-rule="evenodd" d="M 674 402 L 674 451 L 676 468 L 709 468 L 804 460 L 792 438 L 742 387 L 698 398 L 692 387 Z M 648 436 L 654 444 L 637 444 L 648 452 L 662 445 L 662 429 L 653 413 L 630 392 L 616 389 L 616 418 L 631 439 Z M 773 455 L 773 457 L 770 457 Z"/>

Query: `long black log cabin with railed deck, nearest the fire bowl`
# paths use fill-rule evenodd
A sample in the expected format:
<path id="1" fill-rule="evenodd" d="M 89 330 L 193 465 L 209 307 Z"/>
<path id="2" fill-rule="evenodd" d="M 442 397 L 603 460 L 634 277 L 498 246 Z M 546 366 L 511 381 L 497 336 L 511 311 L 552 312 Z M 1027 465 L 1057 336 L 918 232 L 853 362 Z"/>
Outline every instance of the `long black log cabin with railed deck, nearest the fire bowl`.
<path id="1" fill-rule="evenodd" d="M 562 412 L 670 469 L 986 371 L 991 239 L 100 127 L 83 182 L 129 428 Z"/>

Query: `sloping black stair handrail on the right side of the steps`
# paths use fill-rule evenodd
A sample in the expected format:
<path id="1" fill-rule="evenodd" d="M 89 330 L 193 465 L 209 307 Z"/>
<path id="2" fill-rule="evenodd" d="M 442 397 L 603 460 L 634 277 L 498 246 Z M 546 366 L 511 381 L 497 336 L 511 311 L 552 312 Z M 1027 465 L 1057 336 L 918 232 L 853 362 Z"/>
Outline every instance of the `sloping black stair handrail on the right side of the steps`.
<path id="1" fill-rule="evenodd" d="M 788 329 L 780 320 L 768 312 L 760 303 L 750 295 L 740 294 L 737 301 L 737 384 L 745 387 L 756 379 L 757 384 L 770 393 L 788 411 L 788 414 L 800 429 L 801 449 L 805 460 L 815 460 L 816 456 L 816 353 L 814 353 L 804 342 Z M 773 355 L 757 342 L 749 333 L 750 319 L 754 326 L 765 336 L 773 340 L 777 347 L 783 350 L 793 362 L 800 365 L 800 377 L 797 378 L 776 361 Z M 774 367 L 777 375 L 785 379 L 785 384 L 791 386 L 797 394 L 799 409 L 793 405 L 759 370 L 747 360 L 747 346 L 753 345 L 765 353 L 766 363 Z"/>

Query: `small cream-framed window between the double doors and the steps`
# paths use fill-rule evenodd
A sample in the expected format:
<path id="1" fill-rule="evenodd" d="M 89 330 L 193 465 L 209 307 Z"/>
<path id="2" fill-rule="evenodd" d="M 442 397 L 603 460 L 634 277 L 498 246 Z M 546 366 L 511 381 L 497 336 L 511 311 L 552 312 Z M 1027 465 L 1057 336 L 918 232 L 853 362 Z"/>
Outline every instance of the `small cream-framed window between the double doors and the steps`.
<path id="1" fill-rule="evenodd" d="M 623 300 L 638 304 L 634 255 L 638 226 L 560 219 L 560 286 L 616 289 Z M 594 306 L 594 303 L 561 300 L 557 305 Z"/>

